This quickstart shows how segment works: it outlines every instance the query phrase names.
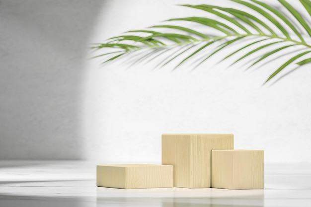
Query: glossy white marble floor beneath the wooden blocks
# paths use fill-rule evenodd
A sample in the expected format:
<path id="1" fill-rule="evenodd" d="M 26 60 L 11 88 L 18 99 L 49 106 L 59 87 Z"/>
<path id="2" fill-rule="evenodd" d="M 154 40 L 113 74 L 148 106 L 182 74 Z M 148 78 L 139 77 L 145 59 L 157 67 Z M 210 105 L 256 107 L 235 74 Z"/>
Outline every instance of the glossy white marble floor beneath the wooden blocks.
<path id="1" fill-rule="evenodd" d="M 311 207 L 311 163 L 266 164 L 263 190 L 124 190 L 95 176 L 91 162 L 0 161 L 0 207 Z"/>

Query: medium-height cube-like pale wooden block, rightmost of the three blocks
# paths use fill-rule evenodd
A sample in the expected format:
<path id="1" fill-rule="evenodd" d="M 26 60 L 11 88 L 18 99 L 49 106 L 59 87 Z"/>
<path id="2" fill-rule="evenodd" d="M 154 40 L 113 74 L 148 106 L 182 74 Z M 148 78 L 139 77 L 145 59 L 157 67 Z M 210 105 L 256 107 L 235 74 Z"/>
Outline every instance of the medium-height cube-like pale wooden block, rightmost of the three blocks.
<path id="1" fill-rule="evenodd" d="M 264 151 L 212 150 L 212 188 L 264 188 Z"/>

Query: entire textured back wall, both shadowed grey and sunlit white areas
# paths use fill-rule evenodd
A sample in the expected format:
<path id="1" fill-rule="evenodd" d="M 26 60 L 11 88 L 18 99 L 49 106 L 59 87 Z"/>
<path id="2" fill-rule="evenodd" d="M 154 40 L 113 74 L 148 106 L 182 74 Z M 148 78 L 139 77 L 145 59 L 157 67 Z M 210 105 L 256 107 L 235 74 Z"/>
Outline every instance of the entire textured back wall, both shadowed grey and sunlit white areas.
<path id="1" fill-rule="evenodd" d="M 201 15 L 175 4 L 202 2 L 215 1 L 0 0 L 0 159 L 159 163 L 162 133 L 233 133 L 266 162 L 310 162 L 310 66 L 262 86 L 278 63 L 226 69 L 217 56 L 171 72 L 87 59 L 91 42 Z"/>

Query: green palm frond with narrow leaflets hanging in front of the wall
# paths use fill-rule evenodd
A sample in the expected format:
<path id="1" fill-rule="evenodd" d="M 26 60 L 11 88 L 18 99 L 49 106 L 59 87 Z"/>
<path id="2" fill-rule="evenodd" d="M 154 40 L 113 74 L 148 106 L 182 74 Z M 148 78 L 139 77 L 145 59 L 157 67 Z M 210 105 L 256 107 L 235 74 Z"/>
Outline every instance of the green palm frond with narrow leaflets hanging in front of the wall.
<path id="1" fill-rule="evenodd" d="M 181 5 L 202 10 L 206 16 L 168 19 L 166 24 L 131 30 L 91 48 L 105 50 L 96 56 L 103 58 L 104 63 L 129 56 L 131 60 L 136 58 L 132 65 L 157 59 L 159 67 L 178 61 L 176 68 L 199 56 L 198 66 L 220 53 L 229 54 L 222 61 L 233 59 L 233 64 L 245 61 L 251 67 L 269 62 L 277 54 L 281 57 L 282 52 L 291 47 L 305 49 L 303 53 L 292 50 L 291 58 L 281 63 L 266 82 L 295 63 L 298 66 L 311 63 L 310 0 L 297 1 L 305 9 L 304 15 L 286 0 L 278 0 L 278 6 L 260 0 L 231 1 L 243 9 L 209 4 Z M 184 23 L 196 29 L 181 26 Z"/>

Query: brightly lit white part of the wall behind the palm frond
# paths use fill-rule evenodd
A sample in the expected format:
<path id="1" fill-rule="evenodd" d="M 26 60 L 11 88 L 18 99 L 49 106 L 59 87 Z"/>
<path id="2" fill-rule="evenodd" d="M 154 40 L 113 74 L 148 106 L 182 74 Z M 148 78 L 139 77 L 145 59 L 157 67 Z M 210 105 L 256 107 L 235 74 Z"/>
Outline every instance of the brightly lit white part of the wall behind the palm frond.
<path id="1" fill-rule="evenodd" d="M 172 17 L 201 15 L 175 4 L 202 2 L 215 3 L 115 0 L 101 13 L 92 41 Z M 262 86 L 281 62 L 247 71 L 246 62 L 229 69 L 230 62 L 214 66 L 224 55 L 194 71 L 194 61 L 173 72 L 152 70 L 156 62 L 131 68 L 123 61 L 103 68 L 99 60 L 88 62 L 82 115 L 86 156 L 159 163 L 162 133 L 233 133 L 235 148 L 264 149 L 266 162 L 310 162 L 310 66 Z"/>

